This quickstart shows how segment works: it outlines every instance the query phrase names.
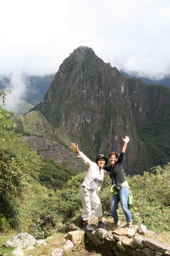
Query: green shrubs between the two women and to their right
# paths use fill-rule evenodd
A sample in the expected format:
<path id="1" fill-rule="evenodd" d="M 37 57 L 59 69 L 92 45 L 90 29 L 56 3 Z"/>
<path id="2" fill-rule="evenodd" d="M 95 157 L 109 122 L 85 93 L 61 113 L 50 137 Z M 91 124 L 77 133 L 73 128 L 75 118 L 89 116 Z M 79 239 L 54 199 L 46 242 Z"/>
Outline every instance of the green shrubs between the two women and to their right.
<path id="1" fill-rule="evenodd" d="M 133 208 L 131 214 L 134 224 L 144 224 L 155 232 L 169 231 L 170 226 L 170 163 L 164 168 L 160 166 L 144 172 L 143 176 L 127 176 L 133 193 Z M 100 199 L 103 211 L 110 213 L 110 185 L 109 177 L 104 177 L 104 183 L 100 191 Z M 125 222 L 125 216 L 119 205 L 119 218 Z"/>

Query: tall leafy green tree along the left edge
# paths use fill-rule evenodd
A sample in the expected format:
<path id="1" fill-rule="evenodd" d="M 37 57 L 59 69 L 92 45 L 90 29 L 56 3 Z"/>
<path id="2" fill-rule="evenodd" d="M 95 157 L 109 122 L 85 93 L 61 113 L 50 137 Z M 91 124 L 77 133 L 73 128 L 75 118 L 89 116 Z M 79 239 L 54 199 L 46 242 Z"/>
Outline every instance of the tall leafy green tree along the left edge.
<path id="1" fill-rule="evenodd" d="M 6 95 L 0 92 L 3 103 Z M 0 219 L 5 218 L 10 227 L 19 221 L 18 205 L 21 193 L 27 187 L 26 174 L 36 175 L 40 169 L 37 153 L 29 149 L 21 135 L 10 130 L 16 127 L 12 115 L 13 112 L 0 106 Z"/>

